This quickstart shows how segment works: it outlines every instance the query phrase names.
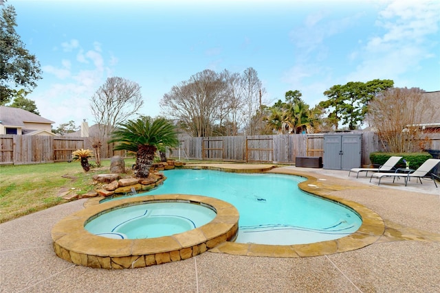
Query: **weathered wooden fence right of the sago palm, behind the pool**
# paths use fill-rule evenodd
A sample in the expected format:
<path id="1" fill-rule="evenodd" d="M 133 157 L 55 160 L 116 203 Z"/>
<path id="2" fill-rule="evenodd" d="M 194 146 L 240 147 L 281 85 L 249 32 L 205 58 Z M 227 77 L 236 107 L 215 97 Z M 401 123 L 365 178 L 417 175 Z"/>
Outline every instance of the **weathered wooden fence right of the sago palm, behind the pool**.
<path id="1" fill-rule="evenodd" d="M 373 132 L 362 135 L 362 164 L 369 164 L 370 152 L 380 150 Z M 179 154 L 179 155 L 178 155 Z M 324 134 L 278 134 L 240 137 L 186 137 L 172 157 L 231 162 L 295 164 L 297 156 L 324 156 Z"/>

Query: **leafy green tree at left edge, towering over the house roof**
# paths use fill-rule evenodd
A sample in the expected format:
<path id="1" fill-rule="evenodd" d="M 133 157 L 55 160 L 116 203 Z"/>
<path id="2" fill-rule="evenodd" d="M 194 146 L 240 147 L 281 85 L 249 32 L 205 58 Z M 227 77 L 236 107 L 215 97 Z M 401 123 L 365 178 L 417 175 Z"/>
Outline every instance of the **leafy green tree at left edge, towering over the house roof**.
<path id="1" fill-rule="evenodd" d="M 15 31 L 17 13 L 12 5 L 0 1 L 0 105 L 5 105 L 17 93 L 14 87 L 30 92 L 41 79 L 40 63 L 25 49 Z"/>

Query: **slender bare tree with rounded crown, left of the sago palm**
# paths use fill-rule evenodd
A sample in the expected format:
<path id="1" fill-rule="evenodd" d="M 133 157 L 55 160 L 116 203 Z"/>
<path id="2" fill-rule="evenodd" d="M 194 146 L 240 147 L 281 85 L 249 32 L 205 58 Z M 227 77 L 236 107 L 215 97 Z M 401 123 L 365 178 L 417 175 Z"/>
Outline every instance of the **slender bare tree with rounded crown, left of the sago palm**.
<path id="1" fill-rule="evenodd" d="M 109 136 L 115 126 L 135 115 L 143 104 L 139 84 L 124 78 L 107 78 L 94 93 L 90 99 L 90 108 L 100 132 L 93 142 L 97 158 L 104 137 Z M 99 161 L 96 163 L 100 165 Z"/>

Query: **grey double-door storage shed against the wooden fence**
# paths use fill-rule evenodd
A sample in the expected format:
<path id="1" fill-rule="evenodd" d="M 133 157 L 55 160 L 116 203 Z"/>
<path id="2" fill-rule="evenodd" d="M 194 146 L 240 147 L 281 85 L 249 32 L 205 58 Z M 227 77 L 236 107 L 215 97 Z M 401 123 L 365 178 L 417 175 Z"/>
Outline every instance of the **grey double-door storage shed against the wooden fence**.
<path id="1" fill-rule="evenodd" d="M 349 170 L 360 167 L 361 134 L 325 134 L 324 169 Z"/>

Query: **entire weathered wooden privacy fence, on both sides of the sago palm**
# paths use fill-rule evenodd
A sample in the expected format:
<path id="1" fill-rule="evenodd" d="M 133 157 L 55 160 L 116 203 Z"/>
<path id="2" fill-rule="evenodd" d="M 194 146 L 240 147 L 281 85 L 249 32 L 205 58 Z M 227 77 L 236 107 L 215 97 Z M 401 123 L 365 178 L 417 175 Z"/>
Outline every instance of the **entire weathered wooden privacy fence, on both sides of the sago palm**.
<path id="1" fill-rule="evenodd" d="M 382 150 L 374 132 L 362 133 L 361 164 L 370 164 L 369 154 Z M 28 135 L 0 135 L 0 164 L 53 163 L 72 159 L 72 152 L 80 148 L 94 150 L 94 137 L 49 137 Z M 114 151 L 113 143 L 101 139 L 101 159 L 124 156 Z M 440 150 L 438 134 L 430 137 L 431 150 Z M 230 162 L 265 162 L 295 164 L 297 156 L 325 154 L 324 134 L 278 134 L 237 137 L 185 137 L 180 148 L 171 149 L 168 157 L 180 155 L 184 159 L 219 160 Z"/>

